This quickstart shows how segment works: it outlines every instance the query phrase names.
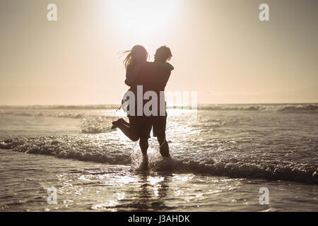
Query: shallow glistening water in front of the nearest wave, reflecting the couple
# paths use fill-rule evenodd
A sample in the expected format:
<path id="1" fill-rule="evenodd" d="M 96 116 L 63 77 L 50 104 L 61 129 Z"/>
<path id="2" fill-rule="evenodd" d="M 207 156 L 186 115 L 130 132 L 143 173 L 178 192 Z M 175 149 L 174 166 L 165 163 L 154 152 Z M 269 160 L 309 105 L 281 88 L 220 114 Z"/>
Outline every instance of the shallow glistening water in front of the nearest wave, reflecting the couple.
<path id="1" fill-rule="evenodd" d="M 134 172 L 0 150 L 2 211 L 317 211 L 317 185 L 206 174 Z M 16 159 L 23 164 L 17 165 Z M 5 160 L 4 160 L 5 159 Z M 47 189 L 57 189 L 57 204 Z M 269 205 L 259 189 L 269 189 Z"/>

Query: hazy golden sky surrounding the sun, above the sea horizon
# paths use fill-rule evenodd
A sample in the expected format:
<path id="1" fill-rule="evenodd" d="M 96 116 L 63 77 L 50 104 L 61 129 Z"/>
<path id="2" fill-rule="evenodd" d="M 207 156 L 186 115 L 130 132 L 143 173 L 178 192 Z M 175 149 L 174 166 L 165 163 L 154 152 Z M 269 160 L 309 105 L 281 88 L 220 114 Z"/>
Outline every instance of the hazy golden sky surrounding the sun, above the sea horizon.
<path id="1" fill-rule="evenodd" d="M 166 90 L 199 103 L 318 102 L 317 21 L 317 0 L 1 0 L 0 105 L 118 104 L 134 44 L 170 47 Z"/>

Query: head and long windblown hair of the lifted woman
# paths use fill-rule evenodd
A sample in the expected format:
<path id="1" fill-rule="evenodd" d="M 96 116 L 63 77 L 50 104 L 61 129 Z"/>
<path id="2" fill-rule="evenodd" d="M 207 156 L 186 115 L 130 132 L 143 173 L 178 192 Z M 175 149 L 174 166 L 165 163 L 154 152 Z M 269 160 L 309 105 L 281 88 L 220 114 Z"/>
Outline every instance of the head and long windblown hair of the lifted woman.
<path id="1" fill-rule="evenodd" d="M 128 66 L 134 66 L 141 62 L 145 62 L 148 59 L 148 52 L 145 47 L 136 44 L 132 47 L 131 50 L 125 51 L 124 54 L 127 54 L 126 58 L 124 59 L 124 66 L 127 68 Z"/>

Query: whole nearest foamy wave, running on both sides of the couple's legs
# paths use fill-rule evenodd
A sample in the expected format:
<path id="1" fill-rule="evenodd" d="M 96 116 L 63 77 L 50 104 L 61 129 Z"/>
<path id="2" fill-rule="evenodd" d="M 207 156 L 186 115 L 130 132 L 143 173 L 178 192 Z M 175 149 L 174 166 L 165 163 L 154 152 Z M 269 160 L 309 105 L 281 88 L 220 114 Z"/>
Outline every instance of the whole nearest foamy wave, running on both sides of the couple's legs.
<path id="1" fill-rule="evenodd" d="M 91 138 L 72 136 L 15 138 L 0 141 L 0 148 L 112 165 L 136 164 L 136 160 L 131 155 L 131 148 L 120 147 L 121 151 L 119 151 L 118 147 L 114 147 L 114 144 Z M 141 157 L 140 152 L 135 155 Z M 201 162 L 174 158 L 163 160 L 158 153 L 156 156 L 153 158 L 150 156 L 151 162 L 149 163 L 151 170 L 155 172 L 199 173 L 318 184 L 317 165 L 275 161 L 247 162 L 236 159 L 206 159 L 201 160 Z"/>

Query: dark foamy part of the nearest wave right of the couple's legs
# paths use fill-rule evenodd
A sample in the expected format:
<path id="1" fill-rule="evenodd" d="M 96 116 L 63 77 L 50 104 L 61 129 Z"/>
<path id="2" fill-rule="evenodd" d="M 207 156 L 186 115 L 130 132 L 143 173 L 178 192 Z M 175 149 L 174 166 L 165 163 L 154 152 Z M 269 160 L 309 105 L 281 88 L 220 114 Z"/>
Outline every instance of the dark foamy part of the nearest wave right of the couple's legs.
<path id="1" fill-rule="evenodd" d="M 263 178 L 295 182 L 318 183 L 318 167 L 295 163 L 227 162 L 213 164 L 182 160 L 165 160 L 156 166 L 157 171 L 213 174 L 235 178 Z"/>

